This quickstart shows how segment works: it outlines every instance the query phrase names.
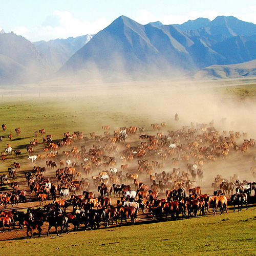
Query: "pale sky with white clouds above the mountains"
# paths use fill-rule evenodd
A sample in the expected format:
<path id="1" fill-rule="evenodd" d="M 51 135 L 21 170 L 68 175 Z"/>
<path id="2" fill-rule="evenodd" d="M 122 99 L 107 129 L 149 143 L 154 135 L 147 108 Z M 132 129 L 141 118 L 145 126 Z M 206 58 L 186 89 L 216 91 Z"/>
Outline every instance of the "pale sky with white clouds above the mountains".
<path id="1" fill-rule="evenodd" d="M 0 0 L 0 31 L 30 41 L 96 34 L 125 15 L 145 25 L 234 16 L 256 24 L 255 0 Z"/>

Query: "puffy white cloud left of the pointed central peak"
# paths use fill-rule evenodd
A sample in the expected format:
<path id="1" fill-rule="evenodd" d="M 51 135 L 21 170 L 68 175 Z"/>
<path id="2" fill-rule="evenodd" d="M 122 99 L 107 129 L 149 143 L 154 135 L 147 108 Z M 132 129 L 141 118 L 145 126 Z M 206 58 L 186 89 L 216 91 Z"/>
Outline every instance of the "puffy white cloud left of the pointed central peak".
<path id="1" fill-rule="evenodd" d="M 56 10 L 46 18 L 41 26 L 30 30 L 25 27 L 17 27 L 13 29 L 13 32 L 31 41 L 48 41 L 56 38 L 95 34 L 110 25 L 110 23 L 104 16 L 96 19 L 94 22 L 89 22 L 73 17 L 68 11 L 61 12 Z"/>

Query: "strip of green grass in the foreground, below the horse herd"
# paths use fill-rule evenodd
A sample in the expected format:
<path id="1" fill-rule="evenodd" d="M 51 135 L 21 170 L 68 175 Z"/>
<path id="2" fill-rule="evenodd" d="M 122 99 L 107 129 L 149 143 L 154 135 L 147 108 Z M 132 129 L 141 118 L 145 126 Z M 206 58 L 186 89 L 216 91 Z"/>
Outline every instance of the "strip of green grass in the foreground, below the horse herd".
<path id="1" fill-rule="evenodd" d="M 4 255 L 255 255 L 256 209 L 0 242 Z M 35 249 L 36 248 L 36 249 Z"/>

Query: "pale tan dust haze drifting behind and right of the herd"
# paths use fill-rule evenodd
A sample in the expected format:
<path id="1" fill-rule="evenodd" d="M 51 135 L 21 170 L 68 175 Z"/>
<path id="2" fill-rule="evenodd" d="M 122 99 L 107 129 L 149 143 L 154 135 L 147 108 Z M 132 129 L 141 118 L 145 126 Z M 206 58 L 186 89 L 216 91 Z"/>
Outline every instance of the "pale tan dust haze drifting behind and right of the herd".
<path id="1" fill-rule="evenodd" d="M 85 75 L 81 73 L 77 77 L 68 76 L 44 80 L 38 84 L 23 84 L 16 87 L 15 93 L 23 92 L 23 100 L 26 95 L 28 98 L 32 95 L 38 97 L 40 93 L 40 100 L 50 98 L 66 101 L 66 108 L 71 112 L 79 109 L 83 113 L 91 108 L 97 115 L 88 117 L 90 120 L 86 116 L 77 119 L 80 124 L 90 122 L 91 130 L 86 131 L 88 133 L 95 129 L 103 133 L 100 131 L 101 126 L 110 125 L 111 133 L 121 126 L 138 126 L 145 127 L 145 133 L 156 135 L 157 132 L 152 131 L 151 124 L 166 122 L 167 127 L 163 133 L 168 135 L 167 131 L 177 131 L 191 123 L 195 127 L 197 123 L 205 123 L 210 127 L 209 123 L 214 122 L 214 129 L 220 131 L 220 135 L 226 131 L 228 136 L 229 131 L 234 131 L 247 133 L 247 139 L 256 138 L 254 100 L 241 101 L 223 93 L 225 86 L 242 84 L 242 80 L 182 81 L 163 77 L 154 80 L 151 77 L 147 81 L 131 81 L 131 77 L 123 75 L 122 79 L 118 78 L 118 82 L 106 82 L 95 69 L 94 75 L 97 79 L 84 82 Z M 219 88 L 221 90 L 217 90 Z M 13 93 L 10 89 L 2 88 L 2 94 Z M 176 113 L 179 116 L 178 122 L 174 120 Z M 108 123 L 105 122 L 106 117 L 109 117 Z M 236 142 L 241 146 L 243 140 L 241 136 Z M 202 186 L 203 192 L 212 194 L 211 183 L 218 174 L 228 180 L 230 176 L 237 174 L 240 181 L 254 181 L 250 172 L 250 167 L 255 164 L 252 161 L 254 155 L 254 148 L 249 148 L 245 154 L 240 151 L 230 152 L 226 159 L 220 157 L 216 162 L 204 160 L 204 178 L 201 182 L 197 181 L 198 185 Z M 190 158 L 188 162 L 194 163 L 194 160 Z M 173 167 L 166 166 L 166 172 L 172 172 Z M 181 163 L 179 167 L 186 171 L 185 163 Z"/>

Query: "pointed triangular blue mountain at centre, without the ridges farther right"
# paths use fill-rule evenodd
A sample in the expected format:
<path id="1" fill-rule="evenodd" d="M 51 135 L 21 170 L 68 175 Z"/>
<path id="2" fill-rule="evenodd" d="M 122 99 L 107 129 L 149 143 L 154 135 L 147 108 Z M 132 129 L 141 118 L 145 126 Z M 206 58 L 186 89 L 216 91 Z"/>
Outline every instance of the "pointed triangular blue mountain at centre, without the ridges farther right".
<path id="1" fill-rule="evenodd" d="M 124 73 L 138 79 L 145 75 L 170 76 L 195 69 L 186 45 L 193 44 L 172 25 L 145 26 L 125 16 L 97 33 L 60 69 L 60 73 L 92 70 Z M 89 70 L 91 70 L 89 72 Z"/>

